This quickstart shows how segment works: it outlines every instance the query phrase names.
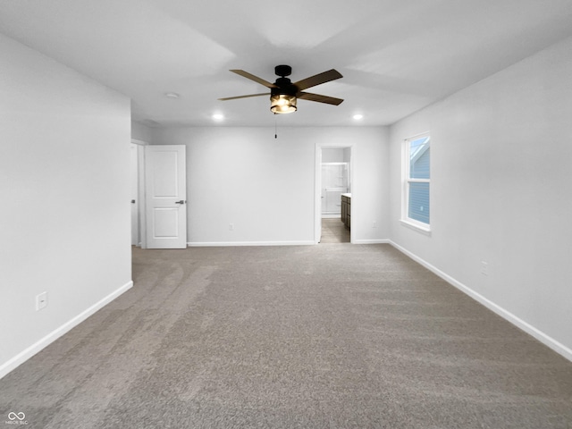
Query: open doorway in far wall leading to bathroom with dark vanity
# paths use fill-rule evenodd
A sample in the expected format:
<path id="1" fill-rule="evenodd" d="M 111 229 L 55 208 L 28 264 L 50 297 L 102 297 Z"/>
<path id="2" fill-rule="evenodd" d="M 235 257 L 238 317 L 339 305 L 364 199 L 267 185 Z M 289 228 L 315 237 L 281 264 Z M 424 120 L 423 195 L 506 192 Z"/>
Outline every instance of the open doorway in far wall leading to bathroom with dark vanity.
<path id="1" fill-rule="evenodd" d="M 315 243 L 351 242 L 352 146 L 316 145 Z"/>

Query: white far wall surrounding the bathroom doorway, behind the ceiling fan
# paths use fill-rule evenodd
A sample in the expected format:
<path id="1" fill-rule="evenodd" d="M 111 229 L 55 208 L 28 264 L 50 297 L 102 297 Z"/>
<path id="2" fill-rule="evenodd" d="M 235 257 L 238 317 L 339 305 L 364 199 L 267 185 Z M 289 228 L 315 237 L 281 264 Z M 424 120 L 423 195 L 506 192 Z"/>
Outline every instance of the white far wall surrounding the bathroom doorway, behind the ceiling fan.
<path id="1" fill-rule="evenodd" d="M 387 239 L 384 127 L 154 129 L 153 142 L 187 145 L 191 245 L 314 243 L 316 145 L 354 147 L 354 238 Z"/>

